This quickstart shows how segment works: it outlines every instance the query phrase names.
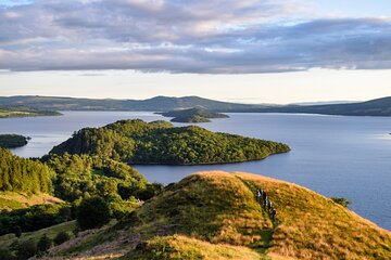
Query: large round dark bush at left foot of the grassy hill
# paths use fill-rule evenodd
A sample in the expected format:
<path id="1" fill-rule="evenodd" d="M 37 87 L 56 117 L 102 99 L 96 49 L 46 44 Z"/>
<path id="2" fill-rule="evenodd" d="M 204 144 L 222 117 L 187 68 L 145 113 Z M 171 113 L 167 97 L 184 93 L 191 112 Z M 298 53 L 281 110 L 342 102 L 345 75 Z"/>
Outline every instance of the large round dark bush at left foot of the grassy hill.
<path id="1" fill-rule="evenodd" d="M 110 221 L 110 208 L 101 197 L 90 197 L 81 200 L 76 214 L 80 230 L 96 229 Z"/>

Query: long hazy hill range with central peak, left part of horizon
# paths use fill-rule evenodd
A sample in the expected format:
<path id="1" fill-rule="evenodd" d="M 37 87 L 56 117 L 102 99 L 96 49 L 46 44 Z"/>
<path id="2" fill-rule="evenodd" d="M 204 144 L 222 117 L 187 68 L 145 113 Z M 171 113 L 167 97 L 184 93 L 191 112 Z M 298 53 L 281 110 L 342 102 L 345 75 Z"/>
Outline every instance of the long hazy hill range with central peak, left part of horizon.
<path id="1" fill-rule="evenodd" d="M 236 104 L 199 96 L 155 96 L 148 100 L 93 100 L 55 96 L 0 96 L 0 106 L 28 106 L 53 110 L 151 110 L 167 112 L 191 107 L 201 107 L 215 112 L 238 112 L 263 105 Z"/>

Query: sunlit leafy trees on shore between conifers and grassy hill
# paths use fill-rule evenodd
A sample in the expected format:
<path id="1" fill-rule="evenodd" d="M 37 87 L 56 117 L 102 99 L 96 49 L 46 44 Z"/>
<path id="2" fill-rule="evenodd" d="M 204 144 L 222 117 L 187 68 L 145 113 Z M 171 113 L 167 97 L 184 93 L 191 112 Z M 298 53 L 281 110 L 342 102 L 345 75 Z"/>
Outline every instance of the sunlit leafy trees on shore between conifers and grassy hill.
<path id="1" fill-rule="evenodd" d="M 52 155 L 46 164 L 55 170 L 55 196 L 74 202 L 90 196 L 129 198 L 144 190 L 147 180 L 130 166 L 88 155 Z M 126 192 L 126 197 L 125 196 Z"/>

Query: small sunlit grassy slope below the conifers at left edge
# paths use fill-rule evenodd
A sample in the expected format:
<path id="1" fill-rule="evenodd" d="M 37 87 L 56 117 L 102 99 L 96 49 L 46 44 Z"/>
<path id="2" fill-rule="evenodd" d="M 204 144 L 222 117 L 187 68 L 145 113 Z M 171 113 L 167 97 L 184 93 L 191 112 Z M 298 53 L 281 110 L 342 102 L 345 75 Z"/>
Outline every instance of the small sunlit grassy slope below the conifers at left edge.
<path id="1" fill-rule="evenodd" d="M 0 210 L 27 208 L 38 204 L 61 203 L 60 198 L 50 196 L 49 194 L 27 194 L 15 192 L 0 192 Z"/>

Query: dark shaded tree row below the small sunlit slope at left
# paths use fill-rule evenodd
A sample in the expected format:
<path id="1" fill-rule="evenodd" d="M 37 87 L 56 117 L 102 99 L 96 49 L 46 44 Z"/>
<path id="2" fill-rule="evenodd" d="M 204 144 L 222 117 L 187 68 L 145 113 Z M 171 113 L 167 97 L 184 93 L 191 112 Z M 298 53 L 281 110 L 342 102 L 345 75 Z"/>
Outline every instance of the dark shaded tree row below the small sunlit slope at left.
<path id="1" fill-rule="evenodd" d="M 30 232 L 73 219 L 71 205 L 46 204 L 0 212 L 0 235 Z"/>

